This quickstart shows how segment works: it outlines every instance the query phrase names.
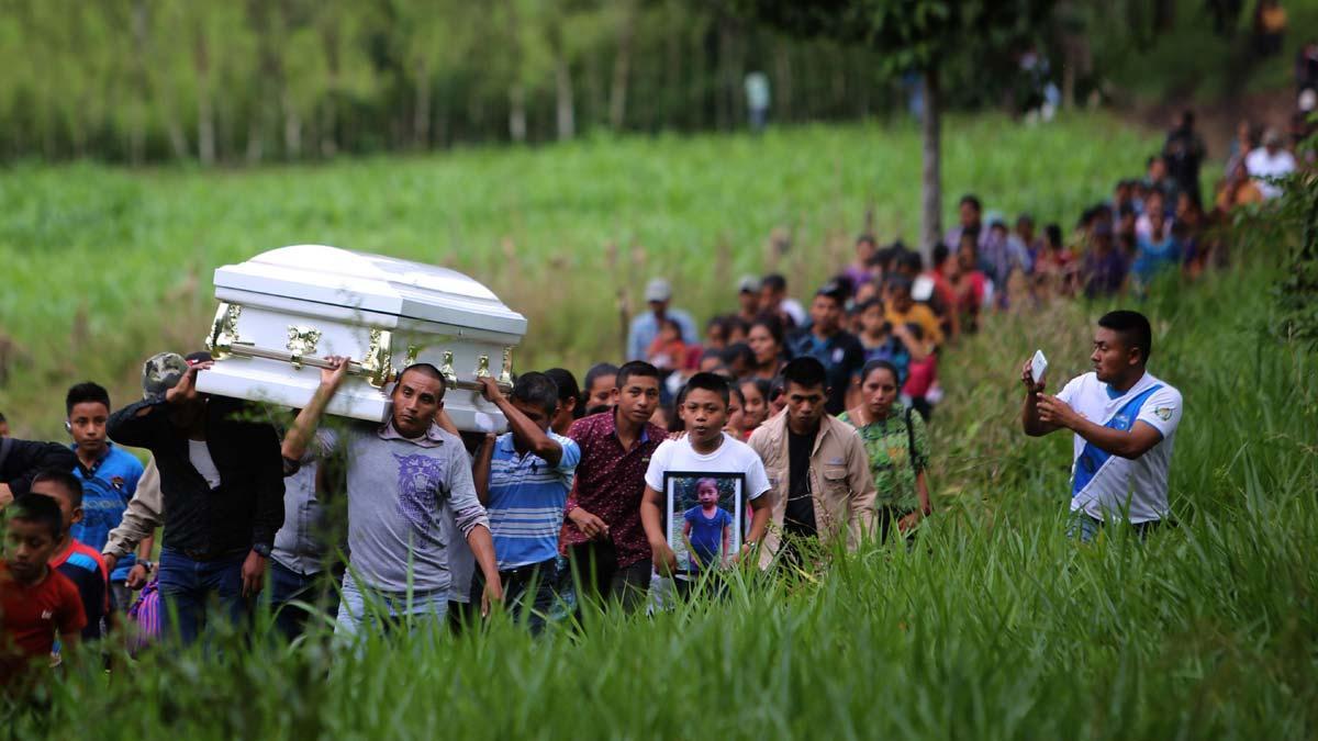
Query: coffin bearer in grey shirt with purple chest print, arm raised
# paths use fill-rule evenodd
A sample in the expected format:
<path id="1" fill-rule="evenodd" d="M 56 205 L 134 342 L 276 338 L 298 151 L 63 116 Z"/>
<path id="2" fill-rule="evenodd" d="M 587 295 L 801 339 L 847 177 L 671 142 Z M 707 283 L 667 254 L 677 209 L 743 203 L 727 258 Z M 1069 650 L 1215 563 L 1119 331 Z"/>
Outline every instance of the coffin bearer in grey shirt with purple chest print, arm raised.
<path id="1" fill-rule="evenodd" d="M 316 436 L 348 359 L 330 357 L 320 388 L 283 440 L 283 456 L 298 460 Z M 476 497 L 472 464 L 457 435 L 435 423 L 444 406 L 444 376 L 419 363 L 398 377 L 384 425 L 345 422 L 322 430 L 330 447 L 343 446 L 348 463 L 348 572 L 343 578 L 337 630 L 355 634 L 387 614 L 405 625 L 442 626 L 452 581 L 449 518 L 456 522 L 485 575 L 482 613 L 503 591 L 485 508 Z M 370 605 L 368 607 L 368 601 Z"/>

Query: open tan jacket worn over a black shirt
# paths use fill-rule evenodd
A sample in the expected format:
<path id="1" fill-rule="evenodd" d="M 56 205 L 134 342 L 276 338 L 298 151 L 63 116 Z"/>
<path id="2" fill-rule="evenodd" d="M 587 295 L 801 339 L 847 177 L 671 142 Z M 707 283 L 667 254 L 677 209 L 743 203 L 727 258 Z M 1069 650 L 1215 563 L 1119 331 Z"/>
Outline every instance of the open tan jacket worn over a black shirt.
<path id="1" fill-rule="evenodd" d="M 760 568 L 770 564 L 782 543 L 783 517 L 787 513 L 787 487 L 791 461 L 787 451 L 787 410 L 764 422 L 750 436 L 750 447 L 764 461 L 768 475 L 771 521 L 760 548 Z M 846 546 L 855 548 L 873 534 L 874 477 L 870 458 L 859 432 L 836 417 L 825 415 L 811 454 L 811 492 L 815 498 L 815 523 L 825 543 L 846 530 Z"/>

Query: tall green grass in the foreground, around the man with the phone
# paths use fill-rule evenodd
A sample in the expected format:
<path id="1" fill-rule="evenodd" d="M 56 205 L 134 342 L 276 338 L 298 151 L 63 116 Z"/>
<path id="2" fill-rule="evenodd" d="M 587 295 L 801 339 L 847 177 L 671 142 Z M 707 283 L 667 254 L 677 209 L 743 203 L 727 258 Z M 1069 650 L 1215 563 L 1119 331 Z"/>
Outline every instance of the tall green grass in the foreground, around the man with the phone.
<path id="1" fill-rule="evenodd" d="M 1017 431 L 1036 347 L 1085 370 L 1107 305 L 994 316 L 945 359 L 936 517 L 911 551 L 737 584 L 652 618 L 532 641 L 500 618 L 335 650 L 163 650 L 70 667 L 11 728 L 96 738 L 1313 738 L 1318 733 L 1318 373 L 1265 339 L 1276 270 L 1168 290 L 1151 368 L 1186 403 L 1178 526 L 1064 535 L 1069 444 Z"/>

